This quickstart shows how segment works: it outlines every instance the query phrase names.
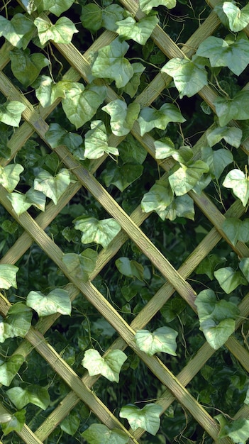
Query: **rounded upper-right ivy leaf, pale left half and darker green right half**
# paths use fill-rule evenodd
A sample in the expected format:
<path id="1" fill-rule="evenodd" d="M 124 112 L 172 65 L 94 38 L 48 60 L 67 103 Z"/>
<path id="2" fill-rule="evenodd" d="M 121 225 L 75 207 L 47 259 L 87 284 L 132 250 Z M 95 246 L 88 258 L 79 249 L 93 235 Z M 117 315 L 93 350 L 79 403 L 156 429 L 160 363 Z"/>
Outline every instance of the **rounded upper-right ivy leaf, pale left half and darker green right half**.
<path id="1" fill-rule="evenodd" d="M 183 96 L 194 96 L 208 84 L 207 72 L 195 57 L 192 60 L 179 57 L 171 59 L 162 67 L 162 72 L 173 77 L 180 99 Z"/>

